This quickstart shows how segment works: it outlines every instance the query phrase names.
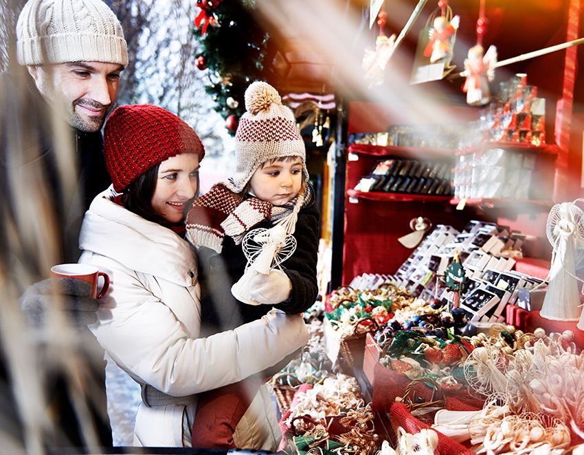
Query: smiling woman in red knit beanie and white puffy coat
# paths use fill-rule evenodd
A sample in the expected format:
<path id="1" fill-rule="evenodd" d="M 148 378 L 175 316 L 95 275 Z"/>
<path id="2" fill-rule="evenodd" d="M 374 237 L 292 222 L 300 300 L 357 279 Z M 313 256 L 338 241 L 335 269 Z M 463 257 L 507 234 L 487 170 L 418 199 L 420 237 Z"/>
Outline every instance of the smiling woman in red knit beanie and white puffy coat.
<path id="1" fill-rule="evenodd" d="M 183 219 L 198 191 L 203 145 L 181 119 L 151 105 L 117 108 L 104 141 L 113 189 L 121 194 L 100 194 L 82 226 L 80 262 L 111 280 L 90 329 L 142 385 L 135 445 L 188 447 L 196 394 L 276 364 L 308 334 L 300 316 L 273 310 L 198 338 L 200 289 Z M 238 447 L 275 450 L 278 427 L 265 388 L 246 416 Z"/>

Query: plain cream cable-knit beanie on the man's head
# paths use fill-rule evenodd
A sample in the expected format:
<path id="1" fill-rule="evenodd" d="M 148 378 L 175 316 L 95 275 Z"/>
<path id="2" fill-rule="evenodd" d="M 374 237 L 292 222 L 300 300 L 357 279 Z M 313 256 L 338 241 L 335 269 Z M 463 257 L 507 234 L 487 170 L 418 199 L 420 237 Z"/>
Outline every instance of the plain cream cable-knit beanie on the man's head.
<path id="1" fill-rule="evenodd" d="M 102 0 L 29 0 L 16 23 L 21 65 L 128 65 L 122 25 Z"/>

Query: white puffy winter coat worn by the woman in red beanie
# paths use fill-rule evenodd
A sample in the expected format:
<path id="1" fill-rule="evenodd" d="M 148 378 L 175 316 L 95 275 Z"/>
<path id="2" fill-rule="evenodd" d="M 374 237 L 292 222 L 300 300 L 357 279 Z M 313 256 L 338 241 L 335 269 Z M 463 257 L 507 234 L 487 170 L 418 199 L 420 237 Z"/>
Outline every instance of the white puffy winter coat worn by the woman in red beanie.
<path id="1" fill-rule="evenodd" d="M 90 329 L 124 371 L 168 395 L 186 396 L 243 380 L 306 344 L 302 317 L 277 310 L 232 331 L 197 338 L 200 290 L 190 245 L 170 229 L 117 205 L 111 194 L 109 189 L 98 195 L 85 215 L 80 262 L 109 274 L 98 323 Z M 240 426 L 249 428 L 238 426 L 236 434 L 239 441 L 245 436 L 247 447 L 275 450 L 278 437 L 269 425 L 273 410 L 261 404 L 262 393 L 260 406 L 249 409 L 260 414 L 246 415 Z M 195 407 L 196 398 L 188 406 L 142 403 L 135 445 L 183 445 L 183 424 L 188 429 Z"/>

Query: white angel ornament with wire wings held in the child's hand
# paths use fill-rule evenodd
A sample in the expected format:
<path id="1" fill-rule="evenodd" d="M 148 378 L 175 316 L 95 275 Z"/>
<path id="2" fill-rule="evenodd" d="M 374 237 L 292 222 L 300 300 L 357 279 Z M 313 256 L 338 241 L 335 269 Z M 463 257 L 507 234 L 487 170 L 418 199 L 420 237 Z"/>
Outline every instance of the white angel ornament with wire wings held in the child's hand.
<path id="1" fill-rule="evenodd" d="M 272 270 L 280 270 L 280 264 L 296 250 L 296 239 L 287 233 L 284 225 L 276 224 L 270 229 L 252 229 L 243 237 L 241 247 L 247 266 L 242 277 L 232 286 L 231 293 L 248 305 L 262 305 L 254 298 L 254 283 L 258 275 L 267 277 Z"/>

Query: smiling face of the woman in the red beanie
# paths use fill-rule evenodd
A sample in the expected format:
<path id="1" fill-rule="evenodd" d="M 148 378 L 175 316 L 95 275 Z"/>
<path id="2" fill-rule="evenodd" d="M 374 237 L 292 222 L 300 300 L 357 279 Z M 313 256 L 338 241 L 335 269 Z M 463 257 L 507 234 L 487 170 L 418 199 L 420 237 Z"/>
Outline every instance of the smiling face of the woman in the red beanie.
<path id="1" fill-rule="evenodd" d="M 198 189 L 199 155 L 172 156 L 158 167 L 152 208 L 168 222 L 181 222 Z"/>

